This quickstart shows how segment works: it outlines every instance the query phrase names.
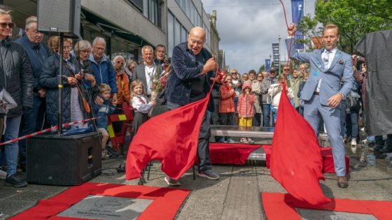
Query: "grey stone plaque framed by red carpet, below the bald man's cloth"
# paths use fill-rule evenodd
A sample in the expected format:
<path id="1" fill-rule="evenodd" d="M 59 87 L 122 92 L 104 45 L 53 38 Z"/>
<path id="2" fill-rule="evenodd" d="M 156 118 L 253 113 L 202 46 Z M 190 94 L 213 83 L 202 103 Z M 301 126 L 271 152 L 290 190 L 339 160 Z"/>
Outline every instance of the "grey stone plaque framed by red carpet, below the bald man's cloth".
<path id="1" fill-rule="evenodd" d="M 153 200 L 90 195 L 57 214 L 84 219 L 137 219 Z"/>

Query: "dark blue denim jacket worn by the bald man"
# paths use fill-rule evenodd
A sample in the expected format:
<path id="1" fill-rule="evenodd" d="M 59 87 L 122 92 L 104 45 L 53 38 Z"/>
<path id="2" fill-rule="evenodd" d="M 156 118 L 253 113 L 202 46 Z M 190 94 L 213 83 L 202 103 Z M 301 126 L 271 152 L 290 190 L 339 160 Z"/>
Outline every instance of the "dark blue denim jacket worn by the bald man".
<path id="1" fill-rule="evenodd" d="M 167 84 L 167 101 L 179 105 L 190 103 L 190 90 L 192 80 L 197 78 L 203 70 L 205 62 L 212 57 L 207 49 L 201 51 L 204 63 L 196 61 L 195 54 L 188 49 L 188 43 L 180 43 L 173 49 L 172 73 Z M 214 77 L 214 72 L 207 73 L 207 83 L 204 83 L 204 93 L 208 94 L 210 89 L 210 77 Z M 210 98 L 211 100 L 212 98 Z"/>

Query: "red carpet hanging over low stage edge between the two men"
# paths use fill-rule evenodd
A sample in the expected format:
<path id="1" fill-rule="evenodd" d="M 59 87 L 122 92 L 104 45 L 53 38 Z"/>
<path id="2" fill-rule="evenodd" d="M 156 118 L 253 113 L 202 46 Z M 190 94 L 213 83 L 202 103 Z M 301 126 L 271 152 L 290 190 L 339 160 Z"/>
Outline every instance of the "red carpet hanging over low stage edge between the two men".
<path id="1" fill-rule="evenodd" d="M 249 154 L 260 147 L 260 145 L 211 142 L 209 153 L 212 163 L 245 164 Z"/>

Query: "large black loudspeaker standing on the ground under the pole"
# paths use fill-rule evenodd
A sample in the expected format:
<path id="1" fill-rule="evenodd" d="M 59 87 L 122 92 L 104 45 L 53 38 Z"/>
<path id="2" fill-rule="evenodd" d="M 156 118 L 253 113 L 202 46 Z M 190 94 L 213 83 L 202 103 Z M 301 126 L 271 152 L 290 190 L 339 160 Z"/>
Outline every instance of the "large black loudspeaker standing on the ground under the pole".
<path id="1" fill-rule="evenodd" d="M 46 134 L 27 139 L 27 182 L 79 185 L 102 171 L 101 135 Z"/>

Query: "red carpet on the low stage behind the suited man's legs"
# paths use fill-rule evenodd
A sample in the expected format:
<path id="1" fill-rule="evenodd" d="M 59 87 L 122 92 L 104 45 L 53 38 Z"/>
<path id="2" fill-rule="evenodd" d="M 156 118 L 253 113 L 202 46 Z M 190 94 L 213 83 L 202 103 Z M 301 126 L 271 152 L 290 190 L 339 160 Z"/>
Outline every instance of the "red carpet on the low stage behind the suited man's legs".
<path id="1" fill-rule="evenodd" d="M 269 160 L 271 159 L 272 145 L 262 145 L 265 152 L 265 166 L 269 168 Z M 323 157 L 323 173 L 335 173 L 335 166 L 333 164 L 332 149 L 331 147 L 321 147 L 321 156 Z M 346 156 L 346 173 L 350 170 L 350 160 Z"/>

